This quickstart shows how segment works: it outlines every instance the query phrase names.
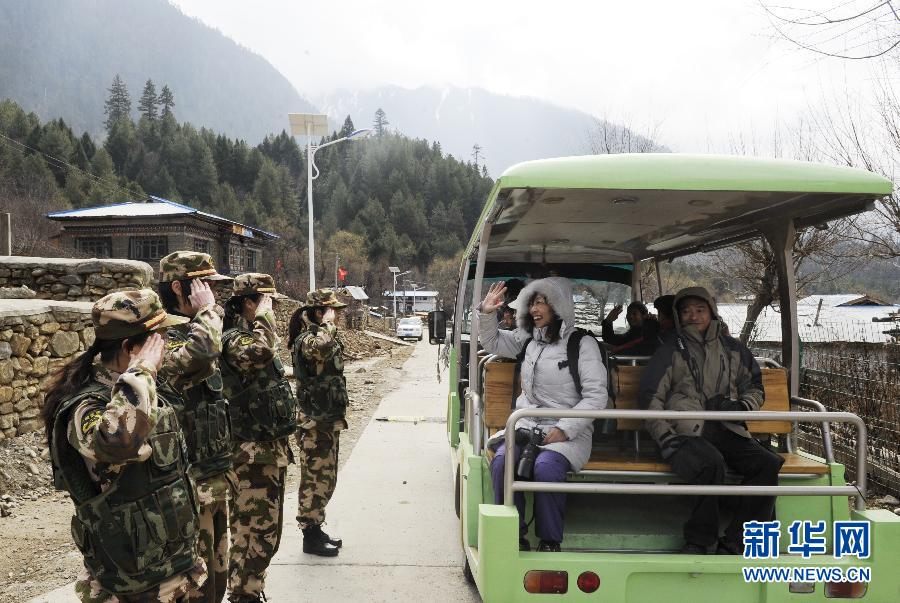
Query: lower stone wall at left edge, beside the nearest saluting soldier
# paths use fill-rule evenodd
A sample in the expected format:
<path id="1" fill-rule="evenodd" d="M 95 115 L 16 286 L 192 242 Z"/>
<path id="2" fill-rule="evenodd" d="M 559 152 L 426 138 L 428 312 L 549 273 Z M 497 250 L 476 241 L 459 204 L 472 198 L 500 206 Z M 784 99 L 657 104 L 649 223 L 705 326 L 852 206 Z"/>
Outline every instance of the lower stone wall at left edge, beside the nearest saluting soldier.
<path id="1" fill-rule="evenodd" d="M 91 305 L 0 299 L 0 440 L 43 426 L 51 375 L 94 341 Z"/>

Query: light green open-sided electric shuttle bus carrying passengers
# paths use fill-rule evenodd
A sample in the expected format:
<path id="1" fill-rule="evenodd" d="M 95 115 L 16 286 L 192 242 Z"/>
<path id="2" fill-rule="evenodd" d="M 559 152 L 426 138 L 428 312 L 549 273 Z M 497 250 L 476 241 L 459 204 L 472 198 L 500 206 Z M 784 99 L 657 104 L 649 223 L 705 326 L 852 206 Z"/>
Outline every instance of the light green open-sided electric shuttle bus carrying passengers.
<path id="1" fill-rule="evenodd" d="M 429 317 L 432 343 L 447 339 L 449 347 L 447 434 L 462 565 L 485 601 L 900 602 L 900 517 L 866 508 L 866 426 L 851 413 L 825 412 L 817 401 L 799 397 L 791 261 L 798 231 L 827 228 L 891 191 L 888 180 L 863 170 L 746 157 L 566 157 L 504 172 L 463 256 L 449 333 L 442 312 Z M 487 355 L 477 344 L 474 310 L 492 282 L 564 276 L 574 283 L 579 301 L 600 290 L 641 300 L 647 263 L 656 265 L 658 277 L 667 260 L 758 237 L 775 251 L 782 350 L 778 362 L 758 359 L 766 400 L 752 417 L 640 410 L 637 390 L 647 359 L 615 356 L 609 369 L 614 407 L 514 411 L 515 360 Z M 675 293 L 663 291 L 661 281 L 659 290 Z M 642 430 L 648 418 L 734 420 L 738 415 L 785 458 L 777 486 L 680 482 Z M 509 447 L 515 422 L 525 416 L 590 417 L 605 428 L 595 428 L 590 461 L 565 482 L 517 479 L 513 455 L 507 455 L 505 504 L 497 505 L 489 470 L 493 453 L 485 442 L 506 428 Z M 814 435 L 821 456 L 798 447 L 798 424 Z M 832 452 L 831 432 L 837 429 L 855 443 L 855 457 L 843 459 L 855 469 L 853 482 Z M 526 493 L 530 517 L 535 491 L 568 493 L 561 552 L 519 550 L 512 497 Z M 774 551 L 767 558 L 745 557 L 746 549 L 743 556 L 681 554 L 682 525 L 691 496 L 698 494 L 719 495 L 723 508 L 734 496 L 776 495 L 780 540 Z M 797 521 L 820 529 L 816 554 L 791 548 L 796 534 L 789 528 Z M 843 532 L 848 526 L 864 530 L 853 540 Z M 866 549 L 847 548 L 848 541 L 865 542 Z M 759 573 L 765 568 L 773 571 Z"/>

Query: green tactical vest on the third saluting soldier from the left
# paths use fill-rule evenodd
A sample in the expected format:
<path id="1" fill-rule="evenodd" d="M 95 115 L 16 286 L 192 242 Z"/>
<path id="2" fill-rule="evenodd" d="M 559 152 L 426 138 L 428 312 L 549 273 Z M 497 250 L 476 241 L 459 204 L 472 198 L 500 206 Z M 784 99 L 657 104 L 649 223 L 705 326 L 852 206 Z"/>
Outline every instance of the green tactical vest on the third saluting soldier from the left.
<path id="1" fill-rule="evenodd" d="M 249 335 L 246 331 L 228 329 L 222 335 L 222 348 L 227 348 L 235 337 Z M 297 398 L 277 354 L 249 378 L 225 360 L 221 366 L 235 439 L 271 442 L 297 430 Z"/>

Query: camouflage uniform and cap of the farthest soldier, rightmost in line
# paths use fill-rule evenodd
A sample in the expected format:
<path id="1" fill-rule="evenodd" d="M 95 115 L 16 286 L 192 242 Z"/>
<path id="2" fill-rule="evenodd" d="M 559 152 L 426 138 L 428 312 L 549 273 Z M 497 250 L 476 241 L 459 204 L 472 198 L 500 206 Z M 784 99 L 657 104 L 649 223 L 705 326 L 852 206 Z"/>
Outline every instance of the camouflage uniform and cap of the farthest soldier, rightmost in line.
<path id="1" fill-rule="evenodd" d="M 319 289 L 307 294 L 303 308 L 345 305 L 330 289 Z M 322 525 L 325 506 L 337 485 L 340 432 L 347 428 L 347 383 L 342 352 L 343 345 L 333 323 L 315 324 L 303 314 L 303 330 L 294 341 L 292 355 L 300 400 L 297 444 L 301 478 L 297 521 L 303 530 Z M 323 398 L 328 402 L 320 406 Z M 341 544 L 330 537 L 328 541 L 338 547 Z"/>

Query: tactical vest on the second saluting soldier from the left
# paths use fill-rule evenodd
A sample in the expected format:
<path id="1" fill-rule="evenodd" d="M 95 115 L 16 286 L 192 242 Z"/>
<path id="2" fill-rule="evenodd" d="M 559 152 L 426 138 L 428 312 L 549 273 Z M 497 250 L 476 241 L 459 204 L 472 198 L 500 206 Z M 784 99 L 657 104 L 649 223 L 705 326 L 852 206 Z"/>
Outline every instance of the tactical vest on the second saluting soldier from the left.
<path id="1" fill-rule="evenodd" d="M 168 337 L 178 343 L 188 339 L 186 333 L 177 329 L 169 329 Z M 157 381 L 157 393 L 169 397 L 178 412 L 178 422 L 187 440 L 191 476 L 196 480 L 231 469 L 231 422 L 228 400 L 222 391 L 222 373 L 218 368 L 181 393 L 168 383 Z"/>

